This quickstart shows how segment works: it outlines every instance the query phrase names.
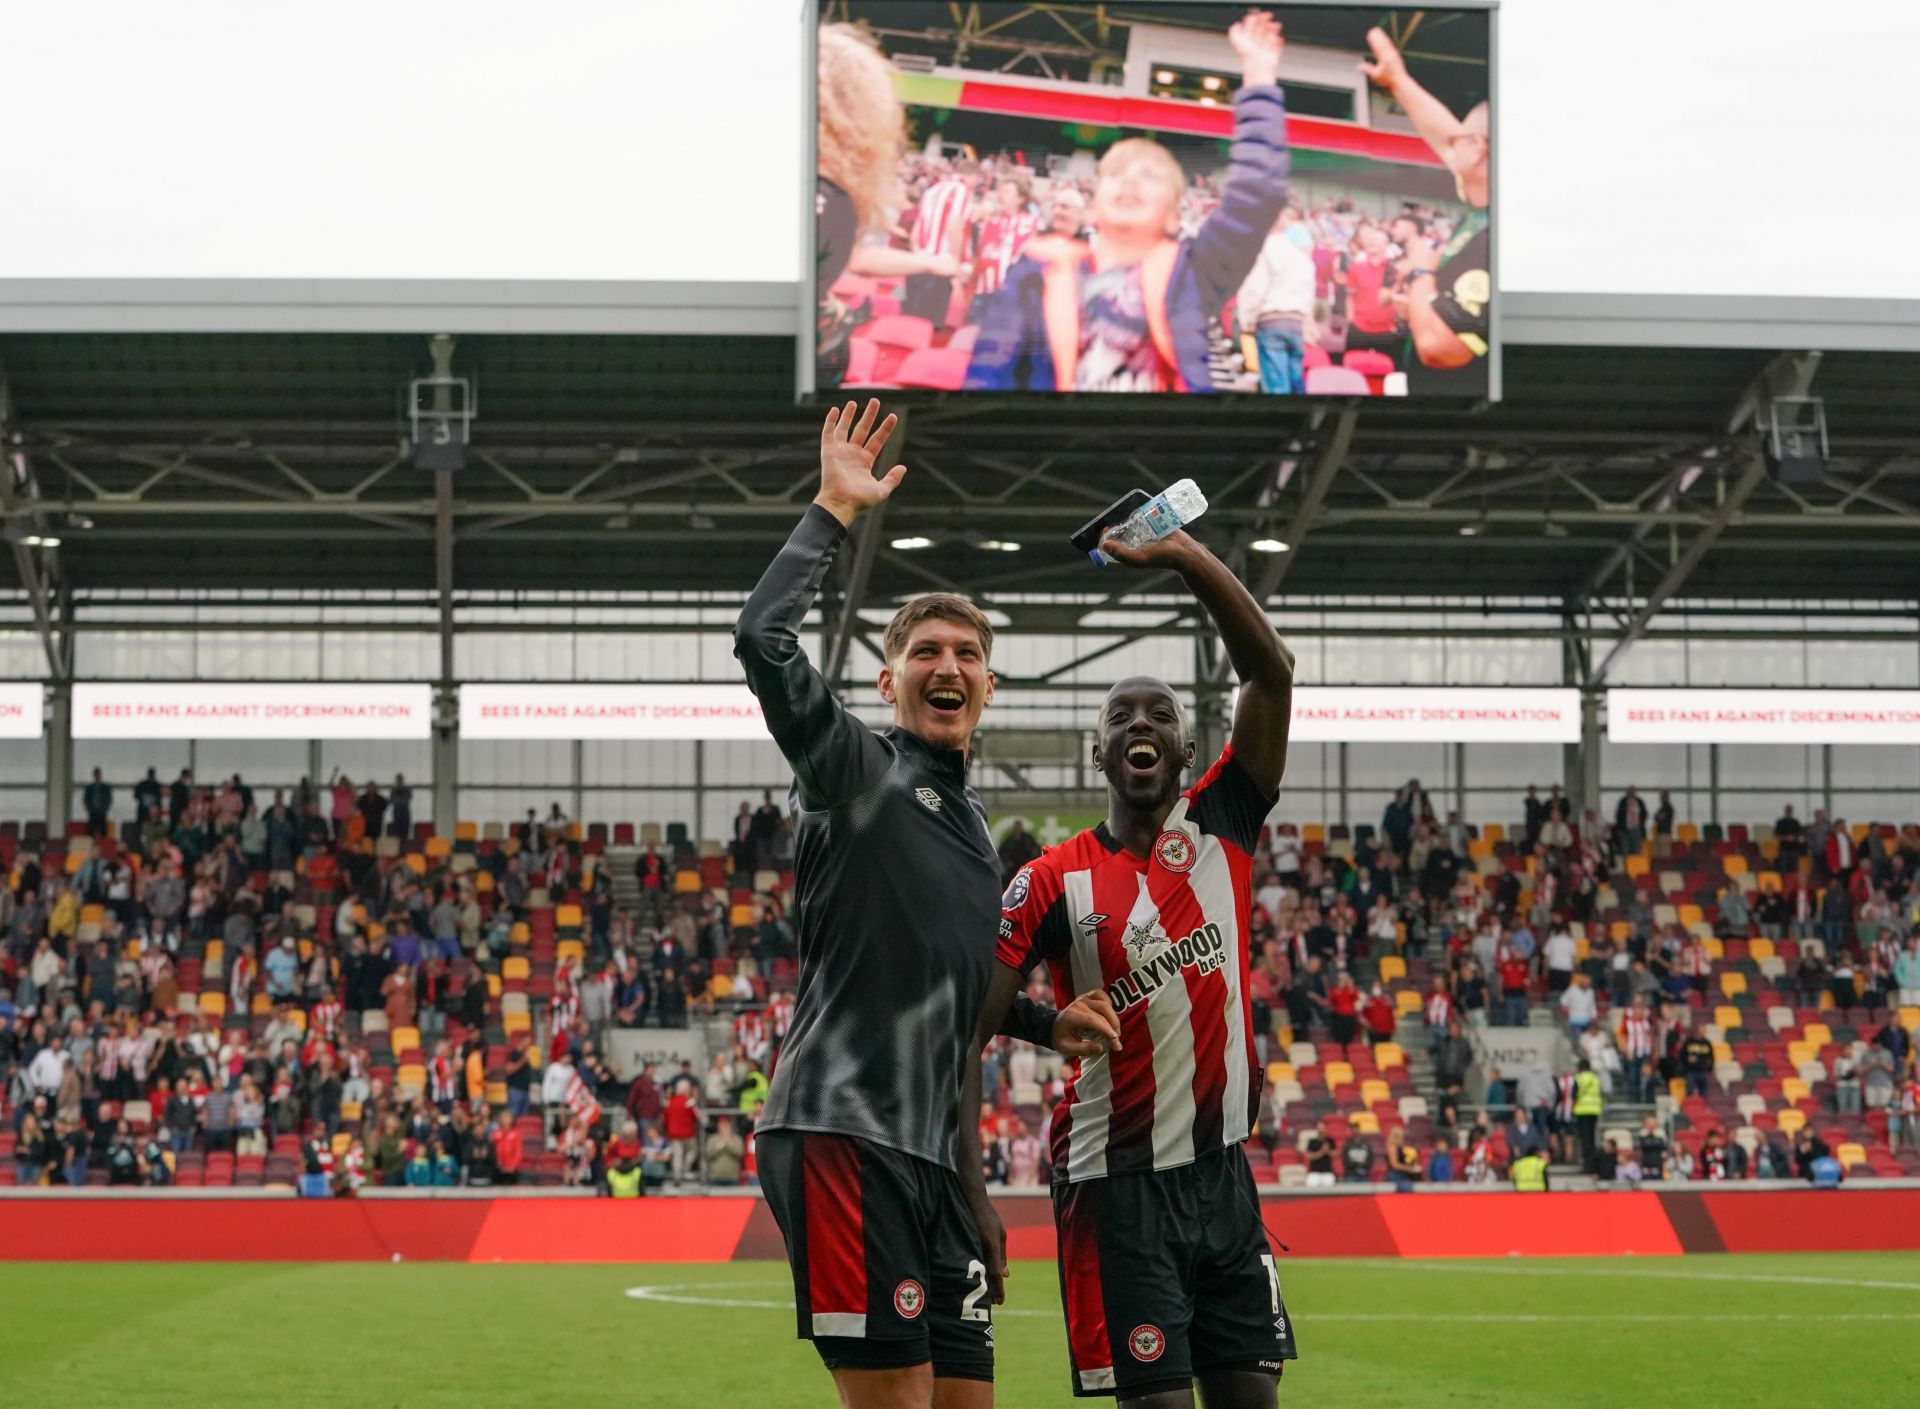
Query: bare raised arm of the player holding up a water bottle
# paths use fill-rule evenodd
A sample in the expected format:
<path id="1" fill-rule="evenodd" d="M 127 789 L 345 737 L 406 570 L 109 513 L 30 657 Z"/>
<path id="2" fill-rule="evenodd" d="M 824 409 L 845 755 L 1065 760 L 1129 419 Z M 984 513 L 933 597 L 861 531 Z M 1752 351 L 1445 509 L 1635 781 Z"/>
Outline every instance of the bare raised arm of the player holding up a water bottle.
<path id="1" fill-rule="evenodd" d="M 1273 797 L 1286 772 L 1286 731 L 1294 714 L 1294 655 L 1273 630 L 1267 612 L 1254 601 L 1227 564 L 1185 532 L 1169 534 L 1146 547 L 1123 547 L 1108 539 L 1110 557 L 1137 568 L 1173 568 L 1206 607 L 1219 639 L 1227 647 L 1233 674 L 1240 678 L 1240 704 L 1233 712 L 1233 756 L 1254 783 Z"/>

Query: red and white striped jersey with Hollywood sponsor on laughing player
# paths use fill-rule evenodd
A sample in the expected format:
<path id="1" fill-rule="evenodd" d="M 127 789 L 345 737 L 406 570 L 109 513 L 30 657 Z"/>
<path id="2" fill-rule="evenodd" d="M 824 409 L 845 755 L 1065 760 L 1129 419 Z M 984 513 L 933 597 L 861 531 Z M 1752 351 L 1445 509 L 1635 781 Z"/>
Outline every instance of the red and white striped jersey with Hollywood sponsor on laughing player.
<path id="1" fill-rule="evenodd" d="M 1081 1062 L 1054 1108 L 1054 1179 L 1175 1169 L 1248 1136 L 1252 852 L 1271 808 L 1229 747 L 1150 856 L 1102 824 L 1008 885 L 1000 962 L 1044 962 L 1060 994 L 1104 987 L 1119 1014 L 1121 1050 Z"/>

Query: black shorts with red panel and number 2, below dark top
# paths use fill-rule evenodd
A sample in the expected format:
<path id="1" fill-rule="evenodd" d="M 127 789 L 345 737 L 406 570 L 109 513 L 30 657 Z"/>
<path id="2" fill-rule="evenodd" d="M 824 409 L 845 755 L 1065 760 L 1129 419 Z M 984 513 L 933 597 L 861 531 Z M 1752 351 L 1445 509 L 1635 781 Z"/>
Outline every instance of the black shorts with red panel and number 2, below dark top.
<path id="1" fill-rule="evenodd" d="M 987 1265 L 958 1175 L 849 1134 L 766 1131 L 755 1152 L 801 1340 L 829 1371 L 931 1361 L 937 1378 L 993 1380 Z"/>

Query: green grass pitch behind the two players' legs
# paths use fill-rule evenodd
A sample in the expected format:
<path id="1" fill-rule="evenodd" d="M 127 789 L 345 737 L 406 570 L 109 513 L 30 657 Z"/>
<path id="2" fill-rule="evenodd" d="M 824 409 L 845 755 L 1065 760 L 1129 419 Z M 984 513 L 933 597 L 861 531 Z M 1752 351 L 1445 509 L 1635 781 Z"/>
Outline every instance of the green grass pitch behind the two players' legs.
<path id="1" fill-rule="evenodd" d="M 1914 1384 L 1920 1254 L 1283 1259 L 1283 1278 L 1302 1353 L 1283 1405 L 1895 1403 Z M 789 1296 L 780 1263 L 12 1263 L 4 1403 L 831 1405 Z M 996 1401 L 1068 1403 L 1050 1263 L 1016 1265 L 996 1321 Z"/>

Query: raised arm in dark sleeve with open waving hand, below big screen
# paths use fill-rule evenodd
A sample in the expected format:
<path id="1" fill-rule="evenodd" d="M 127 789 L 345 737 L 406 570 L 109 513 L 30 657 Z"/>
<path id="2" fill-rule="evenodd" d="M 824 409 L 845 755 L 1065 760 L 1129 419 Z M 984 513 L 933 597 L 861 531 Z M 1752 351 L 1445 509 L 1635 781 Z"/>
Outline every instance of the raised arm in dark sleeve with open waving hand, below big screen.
<path id="1" fill-rule="evenodd" d="M 733 655 L 747 672 L 747 687 L 793 766 L 801 800 L 816 808 L 858 797 L 887 768 L 885 745 L 835 699 L 799 639 L 801 622 L 847 539 L 847 526 L 862 509 L 891 495 L 906 474 L 906 466 L 897 465 L 874 478 L 874 459 L 895 426 L 887 417 L 874 430 L 877 415 L 879 401 L 868 401 L 858 420 L 852 401 L 828 413 L 820 430 L 820 493 L 768 564 L 733 628 Z"/>

